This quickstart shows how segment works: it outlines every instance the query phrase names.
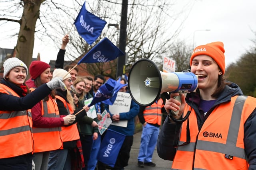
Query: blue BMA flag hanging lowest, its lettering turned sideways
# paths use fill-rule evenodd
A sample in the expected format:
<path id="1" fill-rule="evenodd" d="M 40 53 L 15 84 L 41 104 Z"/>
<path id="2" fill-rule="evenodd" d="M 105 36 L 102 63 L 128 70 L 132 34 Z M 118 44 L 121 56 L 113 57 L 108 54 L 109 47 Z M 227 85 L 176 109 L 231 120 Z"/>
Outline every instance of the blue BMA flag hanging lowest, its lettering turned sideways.
<path id="1" fill-rule="evenodd" d="M 119 151 L 124 143 L 124 139 L 124 134 L 107 129 L 106 134 L 100 144 L 98 161 L 113 168 L 116 164 Z"/>

